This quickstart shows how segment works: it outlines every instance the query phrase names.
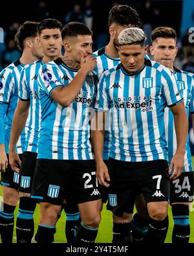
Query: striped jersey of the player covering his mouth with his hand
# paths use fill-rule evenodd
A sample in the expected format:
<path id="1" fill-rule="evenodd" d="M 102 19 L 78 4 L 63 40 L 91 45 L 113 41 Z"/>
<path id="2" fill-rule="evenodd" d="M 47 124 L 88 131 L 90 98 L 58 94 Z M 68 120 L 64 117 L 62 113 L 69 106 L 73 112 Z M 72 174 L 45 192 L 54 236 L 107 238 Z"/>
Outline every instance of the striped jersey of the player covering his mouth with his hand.
<path id="1" fill-rule="evenodd" d="M 38 158 L 92 159 L 89 107 L 94 95 L 96 77 L 87 75 L 80 93 L 70 106 L 61 106 L 50 96 L 54 89 L 67 86 L 78 70 L 71 69 L 61 58 L 43 65 L 39 76 L 41 129 Z"/>

